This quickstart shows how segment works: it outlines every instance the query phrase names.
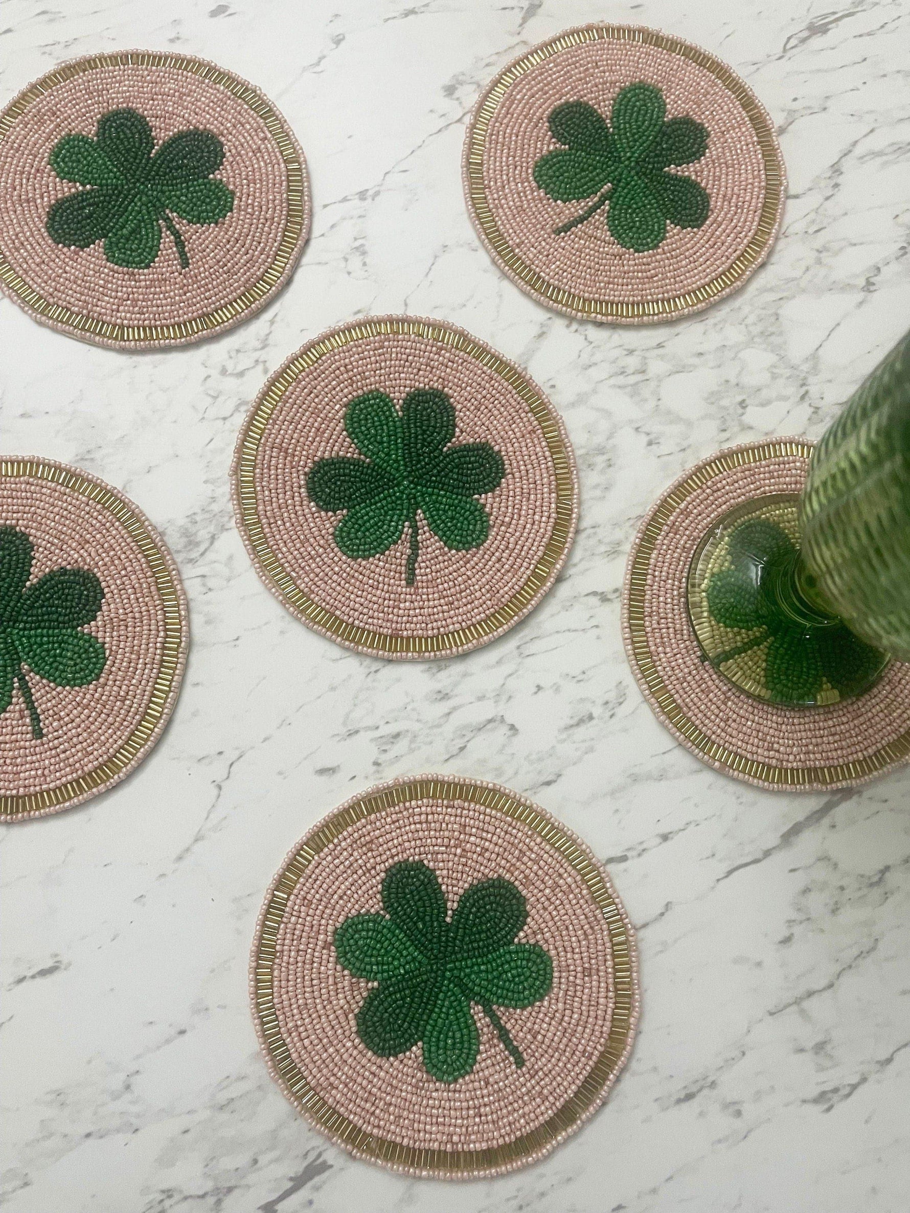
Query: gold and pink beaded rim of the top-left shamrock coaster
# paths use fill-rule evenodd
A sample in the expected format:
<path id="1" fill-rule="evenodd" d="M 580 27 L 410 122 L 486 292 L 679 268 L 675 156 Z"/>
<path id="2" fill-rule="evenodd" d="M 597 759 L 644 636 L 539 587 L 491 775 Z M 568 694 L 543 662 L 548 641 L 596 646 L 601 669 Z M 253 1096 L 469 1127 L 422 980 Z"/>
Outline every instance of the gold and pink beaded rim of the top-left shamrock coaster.
<path id="1" fill-rule="evenodd" d="M 89 55 L 61 63 L 52 72 L 24 89 L 4 109 L 0 114 L 0 142 L 33 101 L 74 76 L 95 72 L 98 68 L 115 67 L 176 68 L 181 72 L 189 72 L 192 75 L 227 89 L 262 120 L 278 147 L 288 175 L 288 221 L 272 264 L 252 286 L 249 286 L 243 295 L 232 302 L 223 303 L 205 315 L 178 324 L 114 324 L 73 312 L 61 303 L 51 303 L 13 269 L 2 250 L 0 250 L 0 287 L 42 323 L 98 346 L 142 349 L 187 344 L 218 330 L 233 328 L 248 313 L 257 312 L 290 274 L 309 234 L 311 197 L 306 160 L 290 127 L 258 89 L 206 59 L 159 51 L 118 51 L 110 55 Z"/>

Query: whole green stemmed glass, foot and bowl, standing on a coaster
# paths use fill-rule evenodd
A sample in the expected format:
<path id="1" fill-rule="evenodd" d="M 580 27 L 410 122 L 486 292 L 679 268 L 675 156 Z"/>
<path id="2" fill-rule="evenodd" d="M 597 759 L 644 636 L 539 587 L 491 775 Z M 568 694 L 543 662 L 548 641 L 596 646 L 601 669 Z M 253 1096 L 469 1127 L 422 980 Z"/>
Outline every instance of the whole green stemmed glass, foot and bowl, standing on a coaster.
<path id="1" fill-rule="evenodd" d="M 910 334 L 815 445 L 802 494 L 704 536 L 688 602 L 706 660 L 772 702 L 835 704 L 910 660 Z"/>

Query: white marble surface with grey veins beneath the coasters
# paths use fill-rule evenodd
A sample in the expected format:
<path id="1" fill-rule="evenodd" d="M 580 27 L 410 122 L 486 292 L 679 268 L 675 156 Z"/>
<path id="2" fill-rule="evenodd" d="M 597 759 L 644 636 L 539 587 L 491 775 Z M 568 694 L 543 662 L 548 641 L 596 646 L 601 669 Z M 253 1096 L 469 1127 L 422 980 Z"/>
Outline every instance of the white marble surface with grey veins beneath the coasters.
<path id="1" fill-rule="evenodd" d="M 260 84 L 309 158 L 288 289 L 221 340 L 146 357 L 0 304 L 7 454 L 121 486 L 183 570 L 193 649 L 171 727 L 114 792 L 2 837 L 10 1213 L 892 1213 L 906 1208 L 910 774 L 774 796 L 675 745 L 622 653 L 637 519 L 732 442 L 818 435 L 906 328 L 905 0 L 6 0 L 2 101 L 57 61 L 174 49 Z M 790 172 L 769 263 L 672 325 L 569 321 L 493 267 L 460 154 L 489 76 L 591 19 L 726 58 Z M 903 124 L 903 125 L 902 125 Z M 256 580 L 227 469 L 266 376 L 352 315 L 445 317 L 527 366 L 578 451 L 553 592 L 468 657 L 387 665 Z M 353 792 L 426 769 L 511 785 L 590 841 L 638 924 L 644 1010 L 597 1117 L 490 1183 L 349 1160 L 261 1063 L 246 956 L 285 850 Z"/>

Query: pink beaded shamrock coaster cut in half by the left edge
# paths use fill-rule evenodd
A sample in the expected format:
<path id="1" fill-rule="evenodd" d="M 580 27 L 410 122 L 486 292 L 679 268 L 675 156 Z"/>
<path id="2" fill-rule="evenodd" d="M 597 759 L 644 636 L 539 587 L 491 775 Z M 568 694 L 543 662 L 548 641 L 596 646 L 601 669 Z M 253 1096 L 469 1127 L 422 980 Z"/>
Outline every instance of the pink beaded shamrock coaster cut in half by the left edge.
<path id="1" fill-rule="evenodd" d="M 187 654 L 177 568 L 103 480 L 0 460 L 0 820 L 80 804 L 147 756 Z"/>

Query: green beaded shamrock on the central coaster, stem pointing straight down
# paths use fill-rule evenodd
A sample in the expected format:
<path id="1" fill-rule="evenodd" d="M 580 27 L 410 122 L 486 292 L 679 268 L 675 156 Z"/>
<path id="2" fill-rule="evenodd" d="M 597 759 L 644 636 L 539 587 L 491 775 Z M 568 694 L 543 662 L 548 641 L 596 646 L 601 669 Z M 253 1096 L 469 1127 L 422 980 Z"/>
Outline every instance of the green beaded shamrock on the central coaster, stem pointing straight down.
<path id="1" fill-rule="evenodd" d="M 449 446 L 455 410 L 444 392 L 416 388 L 399 412 L 385 392 L 366 392 L 345 411 L 345 429 L 365 459 L 320 459 L 307 475 L 309 500 L 347 514 L 335 528 L 339 551 L 354 560 L 381 556 L 410 528 L 405 582 L 417 568 L 417 511 L 450 552 L 480 547 L 489 535 L 487 511 L 474 501 L 505 475 L 489 443 Z"/>

